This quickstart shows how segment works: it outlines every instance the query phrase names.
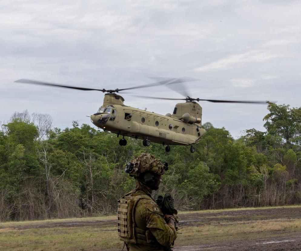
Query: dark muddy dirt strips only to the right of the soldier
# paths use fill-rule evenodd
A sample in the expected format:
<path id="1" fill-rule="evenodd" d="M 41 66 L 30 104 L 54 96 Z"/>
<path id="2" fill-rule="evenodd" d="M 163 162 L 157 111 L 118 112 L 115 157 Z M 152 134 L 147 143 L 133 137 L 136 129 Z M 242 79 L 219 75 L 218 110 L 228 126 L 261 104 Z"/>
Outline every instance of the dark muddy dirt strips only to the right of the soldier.
<path id="1" fill-rule="evenodd" d="M 280 219 L 285 222 L 301 219 L 300 208 L 270 208 L 243 211 L 223 211 L 218 213 L 190 213 L 182 214 L 179 217 L 181 227 L 202 226 L 206 224 L 231 223 L 233 221 L 254 221 L 254 220 Z M 260 229 L 258 229 L 260 230 Z M 193 250 L 258 250 L 258 251 L 280 251 L 280 250 L 301 250 L 301 229 L 299 233 L 290 233 L 285 229 L 273 231 L 270 238 L 239 239 L 222 243 L 207 243 L 193 246 L 176 246 L 174 251 Z M 264 234 L 266 236 L 266 234 Z"/>

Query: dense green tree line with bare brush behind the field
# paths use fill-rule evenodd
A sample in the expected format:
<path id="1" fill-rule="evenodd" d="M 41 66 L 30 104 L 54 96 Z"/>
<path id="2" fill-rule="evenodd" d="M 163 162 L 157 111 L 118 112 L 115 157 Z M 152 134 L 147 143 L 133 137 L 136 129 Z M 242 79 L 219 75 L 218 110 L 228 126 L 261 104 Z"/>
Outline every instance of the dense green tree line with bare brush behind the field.
<path id="1" fill-rule="evenodd" d="M 160 190 L 179 209 L 284 205 L 301 202 L 301 108 L 269 103 L 266 132 L 246 130 L 234 140 L 224 128 L 207 130 L 189 147 L 127 139 L 73 122 L 51 128 L 45 114 L 15 113 L 0 130 L 0 220 L 108 214 L 134 187 L 125 163 L 147 151 L 169 163 Z"/>

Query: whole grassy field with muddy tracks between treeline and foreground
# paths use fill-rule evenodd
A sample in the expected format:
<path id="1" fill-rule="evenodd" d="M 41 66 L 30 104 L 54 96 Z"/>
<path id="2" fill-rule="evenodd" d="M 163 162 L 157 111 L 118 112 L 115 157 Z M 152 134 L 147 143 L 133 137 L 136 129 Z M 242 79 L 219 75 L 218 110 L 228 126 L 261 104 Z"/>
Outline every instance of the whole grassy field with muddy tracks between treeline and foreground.
<path id="1" fill-rule="evenodd" d="M 300 216 L 301 206 L 180 212 L 175 250 L 215 246 L 219 250 L 220 245 L 223 250 L 250 250 L 255 245 L 256 250 L 258 242 L 270 239 L 290 245 L 289 250 L 301 250 L 296 238 L 301 233 Z M 271 245 L 260 250 L 278 250 Z M 0 250 L 121 250 L 122 246 L 116 216 L 0 223 Z"/>

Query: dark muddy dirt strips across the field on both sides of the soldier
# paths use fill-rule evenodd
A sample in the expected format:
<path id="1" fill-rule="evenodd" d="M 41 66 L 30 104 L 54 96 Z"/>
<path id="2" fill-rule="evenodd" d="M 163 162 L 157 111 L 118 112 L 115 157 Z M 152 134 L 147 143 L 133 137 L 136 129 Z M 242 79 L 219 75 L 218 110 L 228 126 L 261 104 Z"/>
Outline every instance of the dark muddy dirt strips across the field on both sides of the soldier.
<path id="1" fill-rule="evenodd" d="M 31 223 L 26 225 L 24 223 L 15 225 L 14 229 L 39 229 L 39 228 L 55 228 L 55 227 L 79 227 L 79 226 L 95 226 L 101 229 L 103 226 L 111 226 L 116 231 L 114 226 L 117 225 L 116 219 L 101 219 L 98 220 L 79 219 L 77 221 L 56 221 Z M 218 211 L 209 213 L 181 213 L 179 215 L 180 229 L 187 229 L 194 226 L 206 226 L 219 224 L 233 224 L 233 222 L 260 222 L 262 220 L 277 220 L 289 222 L 301 219 L 300 207 L 284 207 L 284 208 L 269 208 L 269 209 L 255 209 L 255 210 L 239 210 L 239 211 Z M 235 226 L 235 224 L 233 225 Z M 3 227 L 0 226 L 0 230 Z M 106 230 L 108 231 L 108 230 Z M 245 233 L 242 236 L 232 236 L 226 241 L 217 242 L 216 239 L 208 238 L 206 243 L 199 239 L 195 244 L 189 246 L 181 246 L 180 243 L 175 243 L 174 251 L 193 251 L 193 250 L 301 250 L 301 229 L 295 229 L 293 232 L 289 229 L 273 230 L 269 232 L 260 233 Z M 204 238 L 204 237 L 202 237 Z M 110 251 L 117 251 L 120 249 L 110 249 Z"/>

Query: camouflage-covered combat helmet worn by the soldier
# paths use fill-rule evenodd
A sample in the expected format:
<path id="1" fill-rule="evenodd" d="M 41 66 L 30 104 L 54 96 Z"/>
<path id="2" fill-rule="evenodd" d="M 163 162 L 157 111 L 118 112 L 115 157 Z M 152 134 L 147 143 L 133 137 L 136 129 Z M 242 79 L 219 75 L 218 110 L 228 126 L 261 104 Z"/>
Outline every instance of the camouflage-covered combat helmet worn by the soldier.
<path id="1" fill-rule="evenodd" d="M 134 158 L 132 162 L 128 162 L 125 172 L 130 176 L 139 176 L 143 172 L 155 172 L 159 175 L 164 174 L 168 170 L 167 162 L 161 163 L 160 159 L 156 159 L 150 153 L 142 153 L 139 157 Z"/>

